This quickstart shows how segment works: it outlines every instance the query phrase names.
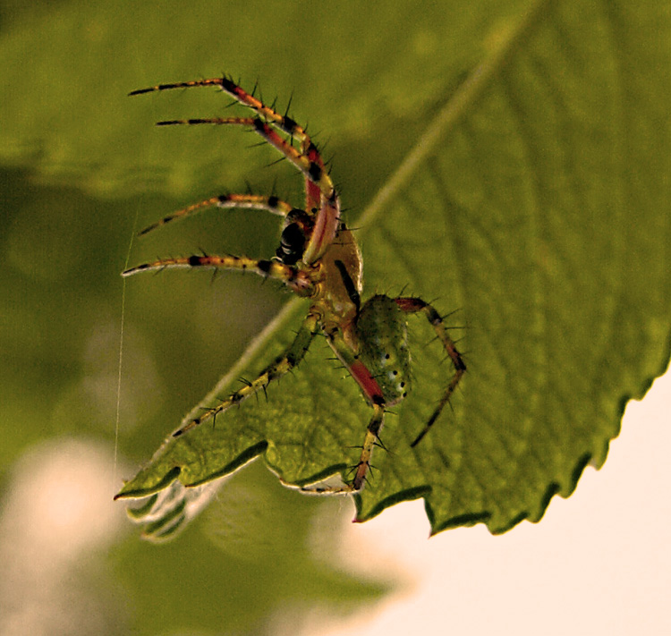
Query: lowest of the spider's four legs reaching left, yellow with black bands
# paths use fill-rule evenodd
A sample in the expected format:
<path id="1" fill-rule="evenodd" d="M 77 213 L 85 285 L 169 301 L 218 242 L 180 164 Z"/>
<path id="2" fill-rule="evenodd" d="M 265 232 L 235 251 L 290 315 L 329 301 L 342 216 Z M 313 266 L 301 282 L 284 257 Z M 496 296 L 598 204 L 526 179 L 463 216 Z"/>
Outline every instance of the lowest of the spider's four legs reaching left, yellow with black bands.
<path id="1" fill-rule="evenodd" d="M 242 272 L 250 271 L 264 278 L 272 278 L 280 283 L 284 283 L 300 296 L 311 296 L 314 293 L 314 284 L 309 273 L 276 260 L 248 259 L 241 256 L 194 255 L 174 259 L 159 259 L 126 269 L 122 272 L 122 276 L 133 276 L 140 272 L 172 269 L 174 267 L 215 267 L 217 269 L 234 269 Z"/>

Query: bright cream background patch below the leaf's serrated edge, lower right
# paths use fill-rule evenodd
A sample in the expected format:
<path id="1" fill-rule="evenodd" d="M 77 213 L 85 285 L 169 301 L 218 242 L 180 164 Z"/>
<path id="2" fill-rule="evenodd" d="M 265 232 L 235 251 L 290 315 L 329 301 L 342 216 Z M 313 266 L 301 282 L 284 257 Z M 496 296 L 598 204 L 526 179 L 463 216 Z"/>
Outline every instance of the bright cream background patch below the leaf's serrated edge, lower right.
<path id="1" fill-rule="evenodd" d="M 426 540 L 418 501 L 352 525 L 342 548 L 352 566 L 400 570 L 408 586 L 345 623 L 315 615 L 303 633 L 671 634 L 670 411 L 667 372 L 628 404 L 604 467 L 586 469 L 538 524 Z"/>

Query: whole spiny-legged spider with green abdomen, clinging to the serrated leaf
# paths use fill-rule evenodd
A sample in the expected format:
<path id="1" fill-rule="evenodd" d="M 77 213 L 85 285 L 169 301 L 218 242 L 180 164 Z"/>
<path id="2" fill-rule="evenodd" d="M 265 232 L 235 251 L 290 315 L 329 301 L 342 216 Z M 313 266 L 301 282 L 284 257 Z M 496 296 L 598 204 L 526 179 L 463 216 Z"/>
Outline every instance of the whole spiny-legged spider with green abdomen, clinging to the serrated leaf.
<path id="1" fill-rule="evenodd" d="M 158 122 L 157 125 L 221 124 L 241 126 L 256 132 L 276 148 L 298 170 L 305 181 L 305 207 L 292 205 L 276 196 L 257 194 L 223 194 L 183 208 L 149 225 L 140 234 L 148 233 L 176 219 L 190 216 L 203 208 L 247 208 L 268 211 L 284 217 L 280 244 L 272 259 L 249 259 L 237 256 L 187 256 L 160 259 L 132 267 L 123 276 L 159 270 L 166 267 L 210 267 L 216 269 L 252 271 L 286 285 L 298 296 L 310 299 L 310 310 L 302 321 L 293 343 L 274 360 L 259 377 L 230 394 L 217 406 L 204 411 L 200 417 L 187 421 L 174 433 L 180 437 L 205 420 L 215 418 L 234 404 L 266 387 L 298 365 L 315 335 L 321 333 L 343 363 L 372 409 L 361 445 L 361 457 L 352 468 L 352 479 L 340 485 L 311 485 L 303 492 L 318 494 L 356 493 L 364 487 L 374 447 L 381 445 L 380 430 L 385 411 L 399 403 L 411 388 L 411 356 L 408 348 L 408 314 L 424 314 L 443 344 L 454 368 L 448 378 L 437 407 L 412 446 L 437 420 L 455 387 L 466 371 L 462 355 L 447 333 L 442 318 L 428 302 L 417 297 L 389 298 L 377 294 L 361 303 L 361 252 L 352 231 L 340 216 L 340 199 L 327 172 L 318 148 L 306 130 L 286 114 L 278 114 L 265 106 L 254 91 L 246 92 L 227 77 L 210 80 L 159 84 L 147 89 L 133 90 L 140 95 L 168 89 L 218 87 L 237 102 L 251 110 L 247 117 L 211 117 Z"/>

